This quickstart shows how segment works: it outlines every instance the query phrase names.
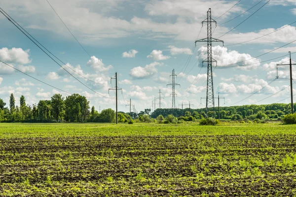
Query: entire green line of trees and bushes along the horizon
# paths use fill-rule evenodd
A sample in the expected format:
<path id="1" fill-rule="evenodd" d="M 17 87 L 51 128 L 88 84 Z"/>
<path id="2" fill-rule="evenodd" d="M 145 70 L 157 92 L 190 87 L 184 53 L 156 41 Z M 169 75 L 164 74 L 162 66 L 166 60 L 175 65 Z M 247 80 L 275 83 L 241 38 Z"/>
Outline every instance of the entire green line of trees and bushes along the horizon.
<path id="1" fill-rule="evenodd" d="M 220 118 L 228 120 L 242 119 L 282 119 L 291 113 L 291 104 L 273 103 L 265 105 L 242 105 L 231 107 L 220 107 Z M 208 116 L 219 118 L 218 107 L 209 111 Z M 206 118 L 206 109 L 156 109 L 151 112 L 145 109 L 140 113 L 118 113 L 118 122 L 129 122 L 129 119 L 138 122 L 151 122 L 159 116 L 167 118 L 169 115 L 179 117 L 185 121 Z M 61 94 L 54 94 L 49 100 L 39 100 L 32 106 L 26 103 L 22 95 L 19 105 L 16 105 L 14 95 L 11 94 L 9 104 L 0 99 L 0 122 L 115 122 L 115 112 L 112 109 L 104 109 L 99 113 L 94 106 L 90 108 L 89 101 L 84 96 L 73 94 L 64 98 Z"/>

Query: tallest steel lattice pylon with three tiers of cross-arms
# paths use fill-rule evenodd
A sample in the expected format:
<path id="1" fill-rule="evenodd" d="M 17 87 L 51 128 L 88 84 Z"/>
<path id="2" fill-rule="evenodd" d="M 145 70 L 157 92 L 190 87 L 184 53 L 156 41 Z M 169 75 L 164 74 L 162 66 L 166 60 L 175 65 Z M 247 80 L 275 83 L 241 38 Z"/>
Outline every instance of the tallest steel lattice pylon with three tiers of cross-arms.
<path id="1" fill-rule="evenodd" d="M 195 45 L 196 45 L 196 42 L 207 42 L 207 44 L 208 44 L 208 58 L 202 62 L 202 63 L 204 63 L 204 62 L 208 63 L 206 112 L 207 112 L 207 117 L 208 117 L 209 108 L 213 107 L 214 117 L 215 117 L 215 109 L 214 109 L 215 108 L 215 98 L 214 98 L 212 64 L 213 64 L 213 62 L 216 62 L 216 65 L 217 65 L 217 61 L 212 58 L 212 42 L 222 42 L 223 45 L 224 45 L 224 42 L 222 40 L 212 38 L 212 23 L 216 23 L 216 27 L 217 27 L 217 22 L 214 19 L 212 19 L 211 8 L 209 8 L 209 10 L 207 12 L 207 19 L 205 19 L 201 24 L 203 25 L 204 23 L 207 23 L 208 37 L 200 39 L 200 40 L 196 40 Z"/>

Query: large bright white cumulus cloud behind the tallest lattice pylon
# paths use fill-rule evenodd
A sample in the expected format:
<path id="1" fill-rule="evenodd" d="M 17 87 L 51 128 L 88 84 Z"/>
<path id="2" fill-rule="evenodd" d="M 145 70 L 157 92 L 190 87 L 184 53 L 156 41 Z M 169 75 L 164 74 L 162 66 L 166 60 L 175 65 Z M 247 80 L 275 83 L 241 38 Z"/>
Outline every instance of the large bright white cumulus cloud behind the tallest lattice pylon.
<path id="1" fill-rule="evenodd" d="M 207 58 L 207 47 L 200 47 L 198 49 L 198 52 L 201 54 L 201 60 Z M 237 65 L 237 68 L 239 69 L 251 70 L 260 66 L 260 59 L 253 58 L 251 55 L 246 53 L 239 53 L 234 50 L 228 50 L 226 47 L 214 46 L 212 49 L 212 53 L 212 57 L 217 61 L 218 67 Z"/>

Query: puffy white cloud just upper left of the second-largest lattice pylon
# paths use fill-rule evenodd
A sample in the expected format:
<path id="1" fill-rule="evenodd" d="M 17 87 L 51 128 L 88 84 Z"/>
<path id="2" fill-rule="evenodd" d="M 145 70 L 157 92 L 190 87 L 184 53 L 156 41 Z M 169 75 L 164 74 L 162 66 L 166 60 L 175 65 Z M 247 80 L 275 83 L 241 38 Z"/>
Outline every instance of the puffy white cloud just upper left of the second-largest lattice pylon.
<path id="1" fill-rule="evenodd" d="M 155 73 L 157 73 L 157 68 L 155 66 L 160 66 L 161 63 L 153 62 L 149 65 L 146 65 L 145 67 L 138 66 L 134 67 L 130 70 L 130 75 L 134 79 L 145 79 L 153 76 Z"/>

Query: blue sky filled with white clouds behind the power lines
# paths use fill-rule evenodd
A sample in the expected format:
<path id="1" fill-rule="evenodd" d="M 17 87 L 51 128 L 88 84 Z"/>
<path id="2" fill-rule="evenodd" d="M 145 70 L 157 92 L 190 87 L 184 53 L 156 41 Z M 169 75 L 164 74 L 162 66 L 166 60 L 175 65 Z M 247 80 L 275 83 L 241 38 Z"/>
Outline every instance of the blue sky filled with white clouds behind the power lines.
<path id="1" fill-rule="evenodd" d="M 260 1 L 241 0 L 217 20 L 217 28 L 213 24 L 213 37 L 218 38 L 227 33 L 267 2 Z M 200 104 L 200 98 L 206 96 L 206 64 L 201 67 L 201 62 L 207 57 L 207 50 L 205 45 L 194 48 L 194 41 L 200 30 L 198 39 L 207 36 L 206 26 L 201 28 L 201 22 L 206 19 L 208 8 L 212 8 L 212 17 L 216 19 L 231 8 L 236 0 L 49 2 L 91 57 L 75 41 L 46 0 L 3 0 L 1 8 L 49 51 L 67 63 L 67 66 L 86 78 L 101 83 L 102 85 L 98 85 L 86 81 L 64 66 L 97 93 L 114 98 L 114 91 L 109 95 L 108 89 L 115 85 L 114 82 L 110 83 L 110 77 L 117 72 L 118 86 L 123 89 L 123 96 L 119 97 L 120 111 L 128 111 L 125 106 L 128 99 L 132 99 L 132 104 L 135 104 L 138 111 L 150 108 L 151 101 L 158 97 L 159 89 L 164 97 L 162 107 L 170 107 L 172 90 L 166 84 L 171 83 L 172 69 L 178 75 L 176 82 L 181 84 L 181 88 L 176 87 L 176 106 L 182 101 L 190 101 L 194 104 L 193 108 L 205 107 L 205 100 Z M 257 3 L 259 4 L 245 14 L 219 25 Z M 271 33 L 296 21 L 295 5 L 296 0 L 270 0 L 236 29 L 219 38 L 224 41 L 224 47 L 221 43 L 213 44 L 213 57 L 218 65 L 214 70 L 214 89 L 216 96 L 220 92 L 225 97 L 223 106 L 240 100 L 242 101 L 236 105 L 266 104 L 282 99 L 284 100 L 281 102 L 290 101 L 289 80 L 277 79 L 270 85 L 267 84 L 276 77 L 276 64 L 289 60 L 277 57 L 288 57 L 288 51 L 296 52 L 296 42 L 255 57 L 295 40 L 296 23 Z M 84 95 L 97 109 L 99 106 L 101 109 L 114 108 L 114 99 L 102 98 L 77 82 L 3 16 L 0 16 L 0 25 L 1 61 L 59 89 Z M 271 34 L 244 44 L 231 45 L 267 33 Z M 194 50 L 191 51 L 192 47 Z M 185 62 L 190 56 L 190 62 L 184 70 Z M 277 59 L 259 63 L 273 58 Z M 295 54 L 292 59 L 296 60 Z M 236 67 L 223 67 L 242 61 L 245 62 Z M 245 66 L 249 64 L 252 65 Z M 296 71 L 293 76 L 296 78 Z M 279 68 L 279 77 L 289 78 L 288 66 Z M 252 95 L 255 92 L 258 93 Z M 24 95 L 29 104 L 37 103 L 40 99 L 50 99 L 54 93 L 61 93 L 65 97 L 68 95 L 0 64 L 0 98 L 8 103 L 11 93 L 14 93 L 16 99 Z M 121 95 L 121 92 L 118 93 Z M 271 97 L 264 99 L 269 96 Z M 260 101 L 261 99 L 264 100 Z"/>

